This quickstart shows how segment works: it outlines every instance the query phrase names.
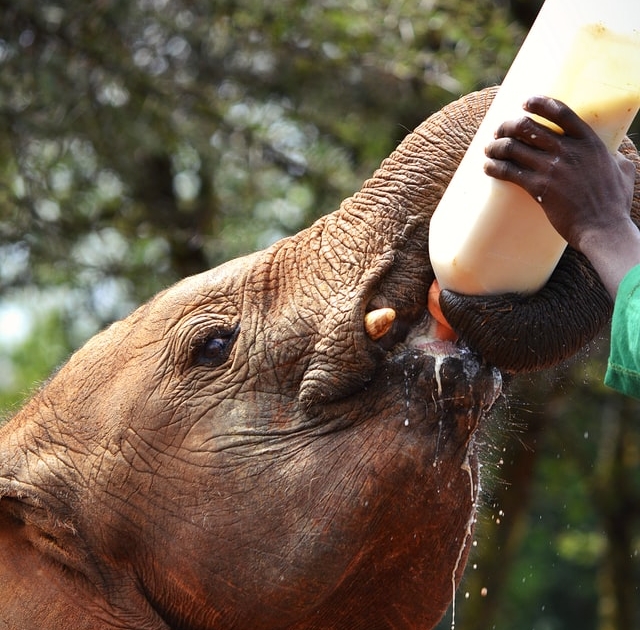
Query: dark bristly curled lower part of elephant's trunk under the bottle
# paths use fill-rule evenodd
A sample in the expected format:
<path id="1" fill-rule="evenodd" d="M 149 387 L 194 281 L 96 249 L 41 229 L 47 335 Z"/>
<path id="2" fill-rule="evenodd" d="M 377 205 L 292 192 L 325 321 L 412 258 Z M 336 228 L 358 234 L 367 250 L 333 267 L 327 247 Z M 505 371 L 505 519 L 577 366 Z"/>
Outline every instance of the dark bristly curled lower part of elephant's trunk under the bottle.
<path id="1" fill-rule="evenodd" d="M 627 138 L 620 150 L 640 172 Z M 631 216 L 640 225 L 640 177 Z M 507 372 L 551 367 L 578 352 L 609 321 L 613 302 L 589 261 L 568 247 L 547 284 L 524 296 L 467 296 L 443 290 L 440 307 L 452 328 L 486 361 Z"/>

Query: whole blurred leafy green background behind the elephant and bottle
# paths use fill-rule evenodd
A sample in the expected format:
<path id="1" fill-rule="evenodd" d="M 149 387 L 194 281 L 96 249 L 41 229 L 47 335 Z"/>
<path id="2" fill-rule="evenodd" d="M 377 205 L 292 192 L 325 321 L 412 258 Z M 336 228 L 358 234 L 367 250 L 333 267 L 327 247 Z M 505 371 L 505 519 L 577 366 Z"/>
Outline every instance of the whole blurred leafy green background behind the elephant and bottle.
<path id="1" fill-rule="evenodd" d="M 540 4 L 0 0 L 0 413 L 162 287 L 336 209 L 500 82 Z M 640 627 L 640 414 L 606 350 L 513 384 L 442 628 Z"/>

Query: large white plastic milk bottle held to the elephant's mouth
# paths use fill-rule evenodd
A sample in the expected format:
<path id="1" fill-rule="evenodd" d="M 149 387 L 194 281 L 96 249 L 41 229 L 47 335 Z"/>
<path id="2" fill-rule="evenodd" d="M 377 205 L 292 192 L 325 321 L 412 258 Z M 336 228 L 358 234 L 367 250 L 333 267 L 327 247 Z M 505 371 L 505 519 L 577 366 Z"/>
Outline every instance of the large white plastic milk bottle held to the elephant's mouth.
<path id="1" fill-rule="evenodd" d="M 546 0 L 432 217 L 442 288 L 533 293 L 566 247 L 535 199 L 483 171 L 495 130 L 534 94 L 567 103 L 615 152 L 640 108 L 640 0 Z"/>

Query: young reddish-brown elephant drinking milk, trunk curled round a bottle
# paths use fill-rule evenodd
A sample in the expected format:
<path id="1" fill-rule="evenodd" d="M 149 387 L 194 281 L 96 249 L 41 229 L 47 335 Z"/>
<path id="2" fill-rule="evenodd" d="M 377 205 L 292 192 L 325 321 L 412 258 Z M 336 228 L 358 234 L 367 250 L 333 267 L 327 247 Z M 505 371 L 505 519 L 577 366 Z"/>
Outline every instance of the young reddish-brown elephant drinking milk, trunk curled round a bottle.
<path id="1" fill-rule="evenodd" d="M 438 623 L 503 378 L 611 312 L 569 250 L 534 296 L 443 293 L 459 340 L 434 337 L 429 218 L 494 94 L 427 118 L 334 213 L 98 333 L 3 426 L 0 628 Z"/>

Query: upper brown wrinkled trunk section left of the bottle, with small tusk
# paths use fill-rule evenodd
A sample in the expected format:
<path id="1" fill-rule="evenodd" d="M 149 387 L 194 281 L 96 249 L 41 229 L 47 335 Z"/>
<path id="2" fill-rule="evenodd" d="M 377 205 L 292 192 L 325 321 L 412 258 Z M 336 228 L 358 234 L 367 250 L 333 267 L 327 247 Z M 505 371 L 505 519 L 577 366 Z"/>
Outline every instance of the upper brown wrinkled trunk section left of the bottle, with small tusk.
<path id="1" fill-rule="evenodd" d="M 337 212 L 285 244 L 301 252 L 307 300 L 324 304 L 304 402 L 362 386 L 384 346 L 376 342 L 403 341 L 426 316 L 429 221 L 491 99 L 478 92 L 429 117 Z"/>

